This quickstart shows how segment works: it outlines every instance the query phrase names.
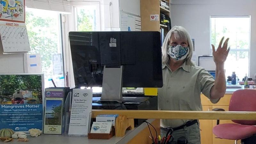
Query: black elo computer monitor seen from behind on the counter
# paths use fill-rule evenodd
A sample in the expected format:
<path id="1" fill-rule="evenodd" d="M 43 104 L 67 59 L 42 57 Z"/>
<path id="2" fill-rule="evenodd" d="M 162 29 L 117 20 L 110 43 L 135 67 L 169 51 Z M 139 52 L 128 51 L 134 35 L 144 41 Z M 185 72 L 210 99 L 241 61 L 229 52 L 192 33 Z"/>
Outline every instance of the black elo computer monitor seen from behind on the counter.
<path id="1" fill-rule="evenodd" d="M 111 83 L 121 89 L 163 86 L 159 32 L 69 32 L 69 41 L 76 87 L 102 86 L 104 96 Z"/>

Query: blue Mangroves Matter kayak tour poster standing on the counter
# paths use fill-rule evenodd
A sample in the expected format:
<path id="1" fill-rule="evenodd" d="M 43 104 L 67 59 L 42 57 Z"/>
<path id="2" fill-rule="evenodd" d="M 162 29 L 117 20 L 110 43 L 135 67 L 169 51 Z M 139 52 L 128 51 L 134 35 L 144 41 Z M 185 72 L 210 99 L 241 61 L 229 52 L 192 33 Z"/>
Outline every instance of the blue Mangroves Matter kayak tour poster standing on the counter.
<path id="1" fill-rule="evenodd" d="M 0 74 L 0 129 L 43 127 L 43 74 Z"/>

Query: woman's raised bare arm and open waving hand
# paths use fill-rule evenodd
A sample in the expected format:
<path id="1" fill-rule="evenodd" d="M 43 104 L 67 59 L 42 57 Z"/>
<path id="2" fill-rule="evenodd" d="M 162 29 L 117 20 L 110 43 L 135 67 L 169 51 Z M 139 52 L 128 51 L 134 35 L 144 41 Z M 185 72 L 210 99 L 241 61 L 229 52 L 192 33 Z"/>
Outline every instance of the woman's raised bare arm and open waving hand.
<path id="1" fill-rule="evenodd" d="M 217 51 L 215 51 L 215 47 L 212 44 L 212 56 L 213 60 L 216 65 L 216 73 L 215 73 L 215 82 L 214 86 L 212 86 L 212 89 L 210 91 L 210 98 L 211 99 L 219 99 L 224 96 L 226 92 L 226 79 L 225 79 L 225 71 L 224 71 L 224 63 L 228 57 L 228 40 L 227 38 L 222 46 L 224 37 L 220 40 L 220 44 L 217 48 Z M 222 46 L 222 47 L 221 47 Z"/>

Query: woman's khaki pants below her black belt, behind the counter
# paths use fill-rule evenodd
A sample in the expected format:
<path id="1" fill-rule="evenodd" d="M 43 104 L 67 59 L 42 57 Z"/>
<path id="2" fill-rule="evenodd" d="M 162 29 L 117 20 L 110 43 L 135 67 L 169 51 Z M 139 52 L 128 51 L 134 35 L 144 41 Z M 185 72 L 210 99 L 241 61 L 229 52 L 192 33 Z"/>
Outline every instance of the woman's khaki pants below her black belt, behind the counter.
<path id="1" fill-rule="evenodd" d="M 166 131 L 161 129 L 161 138 L 166 135 Z M 172 133 L 174 140 L 171 144 L 177 144 L 178 138 L 184 136 L 187 138 L 189 144 L 201 144 L 199 124 L 185 126 L 183 129 L 174 131 Z"/>

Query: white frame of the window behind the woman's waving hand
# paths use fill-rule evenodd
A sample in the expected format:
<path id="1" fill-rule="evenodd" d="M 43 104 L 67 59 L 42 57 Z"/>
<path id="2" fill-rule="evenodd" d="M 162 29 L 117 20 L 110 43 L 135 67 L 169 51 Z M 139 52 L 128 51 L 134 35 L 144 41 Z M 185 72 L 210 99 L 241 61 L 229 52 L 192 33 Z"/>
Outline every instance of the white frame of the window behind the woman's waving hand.
<path id="1" fill-rule="evenodd" d="M 211 22 L 211 18 L 249 18 L 250 19 L 250 26 L 249 26 L 249 49 L 230 49 L 229 52 L 248 52 L 248 76 L 250 76 L 250 55 L 251 55 L 251 15 L 230 15 L 230 16 L 223 16 L 223 15 L 211 15 L 210 16 L 210 20 L 209 20 L 209 24 L 210 24 L 210 43 L 212 42 L 211 38 L 212 38 L 212 22 Z M 216 48 L 215 48 L 216 49 Z M 210 56 L 212 56 L 212 46 L 210 44 Z"/>

